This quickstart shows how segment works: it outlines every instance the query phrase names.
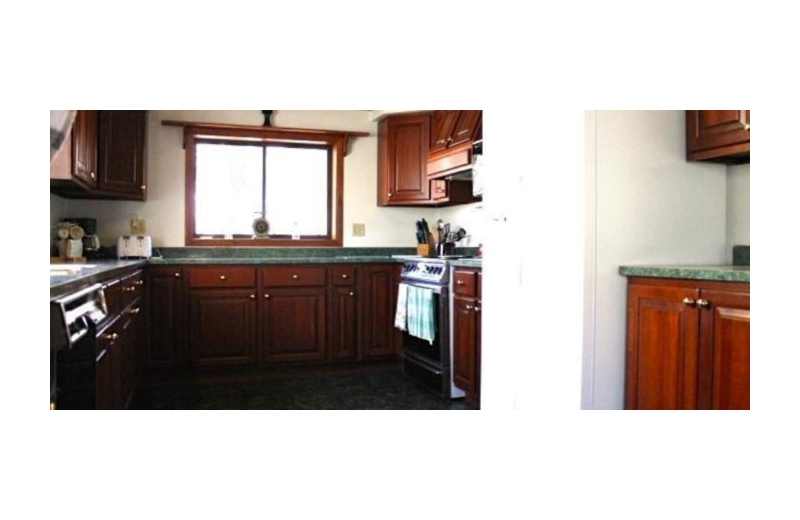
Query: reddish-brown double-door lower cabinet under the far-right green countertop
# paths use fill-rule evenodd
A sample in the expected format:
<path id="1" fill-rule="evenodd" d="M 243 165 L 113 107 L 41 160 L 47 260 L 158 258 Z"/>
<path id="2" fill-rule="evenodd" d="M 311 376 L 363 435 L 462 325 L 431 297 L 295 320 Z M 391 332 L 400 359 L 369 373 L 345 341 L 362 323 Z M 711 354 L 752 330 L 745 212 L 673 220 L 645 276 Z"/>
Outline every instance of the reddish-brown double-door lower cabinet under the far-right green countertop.
<path id="1" fill-rule="evenodd" d="M 750 286 L 632 278 L 626 408 L 750 408 Z"/>

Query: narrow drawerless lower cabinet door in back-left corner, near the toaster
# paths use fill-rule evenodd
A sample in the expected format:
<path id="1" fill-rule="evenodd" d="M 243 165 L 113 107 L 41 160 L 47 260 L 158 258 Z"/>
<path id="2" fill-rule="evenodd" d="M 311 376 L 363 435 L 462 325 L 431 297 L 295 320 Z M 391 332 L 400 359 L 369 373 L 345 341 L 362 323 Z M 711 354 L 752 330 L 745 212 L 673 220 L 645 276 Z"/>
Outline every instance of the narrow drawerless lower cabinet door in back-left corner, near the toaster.
<path id="1" fill-rule="evenodd" d="M 151 268 L 148 273 L 149 365 L 171 366 L 183 358 L 183 271 Z"/>

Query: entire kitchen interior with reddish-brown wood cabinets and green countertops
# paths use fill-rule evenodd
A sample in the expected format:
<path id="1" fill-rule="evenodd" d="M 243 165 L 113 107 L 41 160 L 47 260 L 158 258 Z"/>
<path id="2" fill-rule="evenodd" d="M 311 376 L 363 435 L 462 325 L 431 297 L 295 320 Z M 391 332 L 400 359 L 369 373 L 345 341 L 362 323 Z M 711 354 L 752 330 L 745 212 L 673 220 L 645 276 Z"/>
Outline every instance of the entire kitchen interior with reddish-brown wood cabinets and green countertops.
<path id="1" fill-rule="evenodd" d="M 749 409 L 749 111 L 51 111 L 50 210 L 51 409 Z"/>

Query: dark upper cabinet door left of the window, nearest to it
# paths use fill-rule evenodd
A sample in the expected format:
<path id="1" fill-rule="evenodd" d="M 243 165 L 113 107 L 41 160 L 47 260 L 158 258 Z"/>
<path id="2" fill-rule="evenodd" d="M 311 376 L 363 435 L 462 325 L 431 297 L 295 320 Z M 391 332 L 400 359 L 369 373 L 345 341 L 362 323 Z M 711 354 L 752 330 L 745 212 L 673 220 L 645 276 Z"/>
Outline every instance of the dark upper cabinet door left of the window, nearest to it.
<path id="1" fill-rule="evenodd" d="M 144 200 L 146 128 L 146 110 L 100 110 L 100 191 Z"/>

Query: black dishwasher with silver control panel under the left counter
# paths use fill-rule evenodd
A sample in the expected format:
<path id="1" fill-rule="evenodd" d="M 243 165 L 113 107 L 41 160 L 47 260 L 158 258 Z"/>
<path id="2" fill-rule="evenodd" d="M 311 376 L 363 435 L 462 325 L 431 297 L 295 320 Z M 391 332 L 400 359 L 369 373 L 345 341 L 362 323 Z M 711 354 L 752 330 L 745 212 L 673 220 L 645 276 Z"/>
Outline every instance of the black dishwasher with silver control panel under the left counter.
<path id="1" fill-rule="evenodd" d="M 107 317 L 100 284 L 50 302 L 51 410 L 95 408 L 95 336 Z"/>

